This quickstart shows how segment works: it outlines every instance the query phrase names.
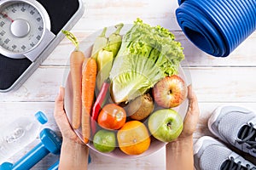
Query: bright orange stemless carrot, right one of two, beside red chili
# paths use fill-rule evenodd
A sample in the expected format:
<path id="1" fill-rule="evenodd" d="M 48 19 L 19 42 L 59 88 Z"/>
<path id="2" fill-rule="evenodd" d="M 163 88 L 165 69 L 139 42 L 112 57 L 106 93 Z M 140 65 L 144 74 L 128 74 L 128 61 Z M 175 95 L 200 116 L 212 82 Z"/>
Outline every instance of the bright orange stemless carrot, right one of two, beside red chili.
<path id="1" fill-rule="evenodd" d="M 96 73 L 96 59 L 89 58 L 84 61 L 82 71 L 82 134 L 85 144 L 90 139 L 90 111 L 94 101 Z"/>

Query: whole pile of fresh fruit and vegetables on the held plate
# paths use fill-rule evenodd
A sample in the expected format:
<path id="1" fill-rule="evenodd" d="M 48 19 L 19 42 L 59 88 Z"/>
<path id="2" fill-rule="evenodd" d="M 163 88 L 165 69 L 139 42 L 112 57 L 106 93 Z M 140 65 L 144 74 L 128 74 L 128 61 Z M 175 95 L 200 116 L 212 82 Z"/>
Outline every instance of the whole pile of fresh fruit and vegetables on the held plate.
<path id="1" fill-rule="evenodd" d="M 178 76 L 183 48 L 172 32 L 137 19 L 120 36 L 123 24 L 94 42 L 90 58 L 76 45 L 70 57 L 73 83 L 72 126 L 82 128 L 84 143 L 96 150 L 117 148 L 127 155 L 148 150 L 152 138 L 177 139 L 183 130 L 181 116 L 172 108 L 183 103 L 187 87 Z M 96 92 L 96 93 L 95 93 Z"/>

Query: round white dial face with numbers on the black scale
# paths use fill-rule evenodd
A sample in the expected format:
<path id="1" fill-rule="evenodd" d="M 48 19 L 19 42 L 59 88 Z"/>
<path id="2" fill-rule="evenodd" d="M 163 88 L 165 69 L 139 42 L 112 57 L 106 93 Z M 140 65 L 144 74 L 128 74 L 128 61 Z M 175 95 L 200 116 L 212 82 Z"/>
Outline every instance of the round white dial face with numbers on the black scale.
<path id="1" fill-rule="evenodd" d="M 29 3 L 7 3 L 0 8 L 0 46 L 11 53 L 35 48 L 44 34 L 44 20 Z"/>

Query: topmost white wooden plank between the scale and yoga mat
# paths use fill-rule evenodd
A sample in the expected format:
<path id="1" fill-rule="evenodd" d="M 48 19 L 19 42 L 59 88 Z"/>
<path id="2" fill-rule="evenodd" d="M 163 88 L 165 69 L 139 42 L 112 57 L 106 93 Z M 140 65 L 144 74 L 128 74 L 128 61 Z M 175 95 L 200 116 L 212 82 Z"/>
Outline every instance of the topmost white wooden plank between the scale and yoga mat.
<path id="1" fill-rule="evenodd" d="M 180 30 L 175 16 L 177 7 L 177 0 L 84 0 L 84 15 L 73 29 L 96 31 L 119 22 L 131 24 L 137 18 L 141 18 L 150 25 Z"/>

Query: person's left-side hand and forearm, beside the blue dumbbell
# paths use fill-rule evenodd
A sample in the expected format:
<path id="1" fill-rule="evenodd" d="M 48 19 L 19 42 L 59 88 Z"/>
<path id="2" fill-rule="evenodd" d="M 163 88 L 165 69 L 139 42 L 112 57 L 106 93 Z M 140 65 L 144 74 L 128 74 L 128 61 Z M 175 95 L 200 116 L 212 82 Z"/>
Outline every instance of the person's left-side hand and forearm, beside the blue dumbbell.
<path id="1" fill-rule="evenodd" d="M 64 88 L 60 88 L 60 93 L 55 99 L 54 116 L 63 138 L 58 169 L 87 169 L 89 149 L 73 132 L 73 128 L 67 120 L 64 111 Z"/>

